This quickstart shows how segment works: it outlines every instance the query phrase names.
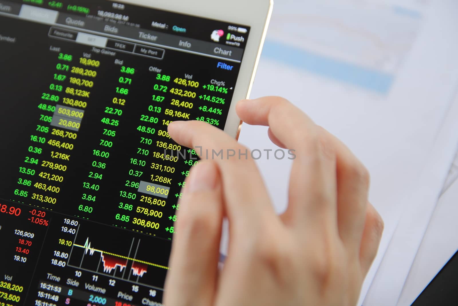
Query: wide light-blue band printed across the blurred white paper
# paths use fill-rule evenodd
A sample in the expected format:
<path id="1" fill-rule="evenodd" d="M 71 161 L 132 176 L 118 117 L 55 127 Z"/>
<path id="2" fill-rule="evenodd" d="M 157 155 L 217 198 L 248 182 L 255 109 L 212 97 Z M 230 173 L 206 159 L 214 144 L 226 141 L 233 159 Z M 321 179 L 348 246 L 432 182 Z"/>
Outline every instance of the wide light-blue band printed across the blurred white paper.
<path id="1" fill-rule="evenodd" d="M 274 41 L 266 41 L 262 56 L 382 95 L 389 92 L 394 81 L 392 74 L 338 61 Z"/>

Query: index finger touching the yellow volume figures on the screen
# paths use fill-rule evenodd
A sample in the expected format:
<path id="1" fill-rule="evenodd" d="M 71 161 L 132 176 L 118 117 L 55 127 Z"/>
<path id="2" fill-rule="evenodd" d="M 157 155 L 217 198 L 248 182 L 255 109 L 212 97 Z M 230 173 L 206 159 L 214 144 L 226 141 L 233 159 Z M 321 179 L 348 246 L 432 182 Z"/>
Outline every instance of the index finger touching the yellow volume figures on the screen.
<path id="1" fill-rule="evenodd" d="M 245 230 L 246 225 L 275 216 L 262 177 L 246 147 L 222 130 L 200 121 L 172 122 L 169 134 L 180 145 L 202 153 L 200 158 L 213 159 L 218 164 L 230 222 L 244 223 Z"/>

